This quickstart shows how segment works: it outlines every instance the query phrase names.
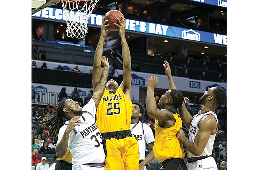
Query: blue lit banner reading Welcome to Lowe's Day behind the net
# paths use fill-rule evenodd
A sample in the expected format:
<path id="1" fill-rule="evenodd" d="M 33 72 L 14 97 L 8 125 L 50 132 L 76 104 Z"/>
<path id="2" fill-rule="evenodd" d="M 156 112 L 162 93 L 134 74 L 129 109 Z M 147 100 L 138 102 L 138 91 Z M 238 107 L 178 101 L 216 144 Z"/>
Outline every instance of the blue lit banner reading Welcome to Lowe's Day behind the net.
<path id="1" fill-rule="evenodd" d="M 37 12 L 36 14 L 33 14 L 32 17 L 50 19 L 55 21 L 66 21 L 66 17 L 63 11 L 63 9 L 47 7 Z M 77 15 L 76 12 L 75 15 Z M 84 14 L 81 13 L 77 21 L 79 22 L 79 20 L 83 19 L 83 17 Z M 103 15 L 91 14 L 88 20 L 88 25 L 101 26 L 103 17 Z M 154 34 L 172 38 L 200 41 L 218 45 L 228 44 L 227 35 L 192 30 L 189 28 L 168 26 L 163 24 L 154 24 L 150 22 L 136 21 L 131 19 L 126 19 L 126 30 L 138 33 Z"/>

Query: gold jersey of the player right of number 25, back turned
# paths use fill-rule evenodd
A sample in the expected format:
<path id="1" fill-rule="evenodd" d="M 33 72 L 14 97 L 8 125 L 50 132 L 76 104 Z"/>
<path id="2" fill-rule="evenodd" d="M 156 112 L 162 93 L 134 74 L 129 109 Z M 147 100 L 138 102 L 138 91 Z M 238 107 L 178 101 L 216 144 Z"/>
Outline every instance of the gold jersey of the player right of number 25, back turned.
<path id="1" fill-rule="evenodd" d="M 173 113 L 173 112 L 171 112 Z M 155 143 L 154 156 L 160 162 L 171 158 L 185 158 L 183 144 L 176 137 L 177 132 L 182 127 L 180 114 L 173 113 L 175 124 L 169 128 L 162 128 L 155 122 Z"/>

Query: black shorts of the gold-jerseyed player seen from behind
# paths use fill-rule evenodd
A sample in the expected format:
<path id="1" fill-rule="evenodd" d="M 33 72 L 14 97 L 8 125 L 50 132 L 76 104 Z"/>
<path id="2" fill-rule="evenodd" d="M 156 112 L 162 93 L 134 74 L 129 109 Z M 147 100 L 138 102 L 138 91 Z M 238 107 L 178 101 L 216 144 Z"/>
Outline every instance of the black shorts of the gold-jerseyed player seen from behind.
<path id="1" fill-rule="evenodd" d="M 183 159 L 172 158 L 165 160 L 159 170 L 187 170 L 187 166 Z"/>

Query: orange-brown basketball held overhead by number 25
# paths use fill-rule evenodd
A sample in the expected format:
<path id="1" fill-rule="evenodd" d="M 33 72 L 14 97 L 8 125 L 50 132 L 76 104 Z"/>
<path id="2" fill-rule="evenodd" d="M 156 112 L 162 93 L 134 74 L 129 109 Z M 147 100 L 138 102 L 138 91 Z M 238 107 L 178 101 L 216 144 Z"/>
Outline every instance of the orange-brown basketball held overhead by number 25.
<path id="1" fill-rule="evenodd" d="M 122 22 L 121 16 L 123 16 L 123 14 L 118 10 L 111 10 L 107 12 L 104 16 L 104 20 L 108 20 L 107 24 L 109 24 L 109 26 L 107 26 L 107 28 L 111 31 L 119 31 L 119 27 L 115 26 L 114 23 L 119 24 L 117 18 Z"/>

